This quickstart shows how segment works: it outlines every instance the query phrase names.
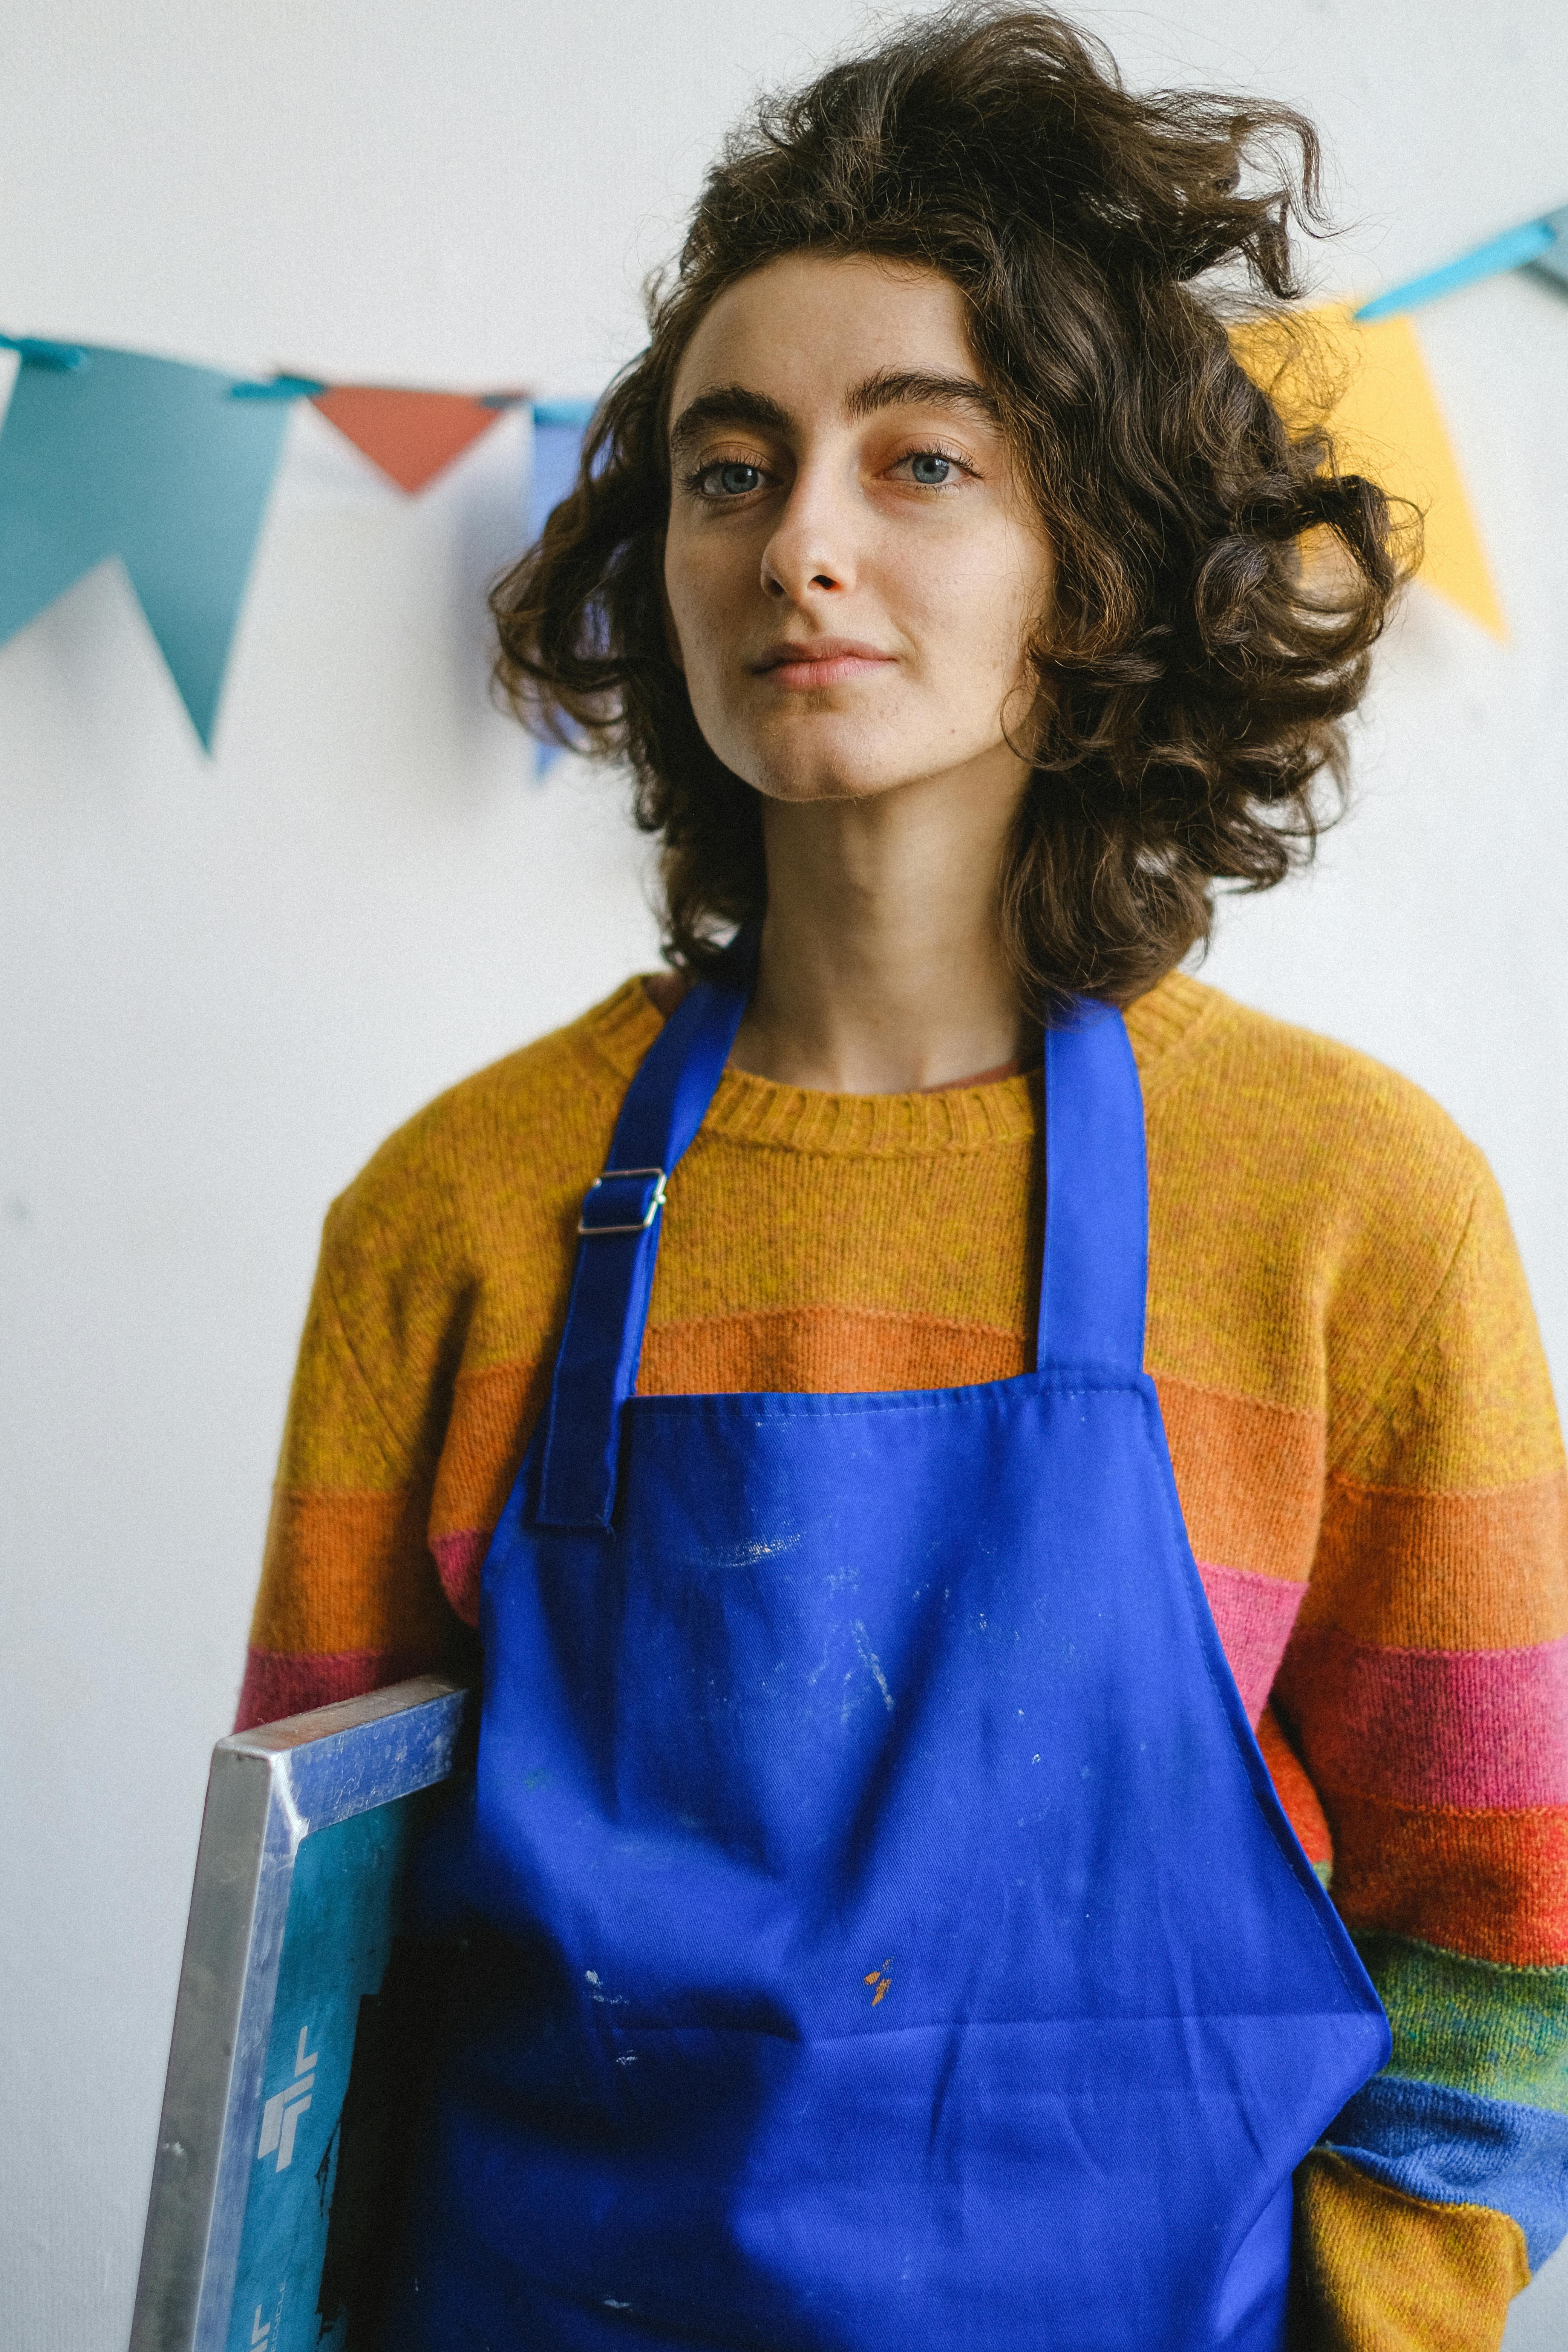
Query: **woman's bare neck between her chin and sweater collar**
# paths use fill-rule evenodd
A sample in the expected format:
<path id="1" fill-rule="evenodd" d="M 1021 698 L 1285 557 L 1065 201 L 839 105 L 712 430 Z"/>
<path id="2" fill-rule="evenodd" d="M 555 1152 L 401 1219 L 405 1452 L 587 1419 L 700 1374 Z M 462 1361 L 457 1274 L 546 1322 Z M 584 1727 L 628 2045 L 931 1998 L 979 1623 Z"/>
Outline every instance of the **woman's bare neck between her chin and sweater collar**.
<path id="1" fill-rule="evenodd" d="M 769 910 L 731 1061 L 830 1094 L 910 1094 L 1027 1047 L 997 887 L 1025 774 L 764 802 Z"/>

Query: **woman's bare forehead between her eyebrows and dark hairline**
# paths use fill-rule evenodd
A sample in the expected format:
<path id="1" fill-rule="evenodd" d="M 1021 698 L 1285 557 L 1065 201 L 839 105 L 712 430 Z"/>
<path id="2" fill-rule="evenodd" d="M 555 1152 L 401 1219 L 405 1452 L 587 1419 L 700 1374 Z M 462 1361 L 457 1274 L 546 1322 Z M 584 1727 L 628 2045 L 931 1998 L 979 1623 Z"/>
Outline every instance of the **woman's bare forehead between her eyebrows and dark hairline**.
<path id="1" fill-rule="evenodd" d="M 698 320 L 670 414 L 719 383 L 792 412 L 842 405 L 879 372 L 976 374 L 952 278 L 870 254 L 785 254 L 738 278 Z"/>

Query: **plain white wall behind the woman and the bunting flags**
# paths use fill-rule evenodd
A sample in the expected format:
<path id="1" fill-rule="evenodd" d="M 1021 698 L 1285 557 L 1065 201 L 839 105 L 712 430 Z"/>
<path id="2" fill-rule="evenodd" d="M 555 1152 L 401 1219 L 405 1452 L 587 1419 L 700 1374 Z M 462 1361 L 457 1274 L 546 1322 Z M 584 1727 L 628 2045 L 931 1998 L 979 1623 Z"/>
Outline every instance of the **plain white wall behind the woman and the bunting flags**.
<path id="1" fill-rule="evenodd" d="M 1568 200 L 1554 0 L 1084 9 L 1145 80 L 1321 120 L 1356 289 Z M 0 327 L 233 367 L 592 393 L 759 75 L 839 0 L 0 0 Z M 1514 635 L 1427 597 L 1361 814 L 1211 976 L 1486 1145 L 1568 1369 L 1568 301 L 1427 353 Z M 2 393 L 2 383 L 0 383 Z M 484 701 L 517 426 L 423 499 L 303 412 L 216 760 L 122 581 L 0 649 L 7 1870 L 0 2343 L 125 2340 L 207 1750 L 233 1710 L 320 1214 L 440 1084 L 649 962 L 614 781 Z M 1552 2296 L 1556 2291 L 1556 2321 Z M 1509 2343 L 1561 2343 L 1568 2260 Z"/>

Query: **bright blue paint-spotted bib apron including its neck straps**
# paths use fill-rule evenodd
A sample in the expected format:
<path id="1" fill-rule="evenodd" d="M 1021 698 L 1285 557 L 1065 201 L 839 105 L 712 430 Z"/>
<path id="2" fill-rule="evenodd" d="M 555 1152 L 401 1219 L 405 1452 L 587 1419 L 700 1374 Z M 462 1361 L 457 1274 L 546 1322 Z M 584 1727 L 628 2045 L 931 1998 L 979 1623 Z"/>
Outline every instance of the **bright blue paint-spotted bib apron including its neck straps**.
<path id="1" fill-rule="evenodd" d="M 484 1957 L 388 2343 L 1279 2352 L 1293 2166 L 1389 2037 L 1182 1529 L 1121 1018 L 1046 1040 L 1034 1371 L 635 1397 L 741 1011 L 632 1080 L 484 1566 Z"/>

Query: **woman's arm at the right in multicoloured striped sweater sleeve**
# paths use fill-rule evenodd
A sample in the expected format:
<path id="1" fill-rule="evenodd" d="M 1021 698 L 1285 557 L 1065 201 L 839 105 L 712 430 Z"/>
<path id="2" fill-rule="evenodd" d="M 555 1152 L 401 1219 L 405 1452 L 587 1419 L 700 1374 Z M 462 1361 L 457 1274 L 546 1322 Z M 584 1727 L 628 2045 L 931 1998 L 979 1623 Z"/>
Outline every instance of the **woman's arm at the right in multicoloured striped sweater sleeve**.
<path id="1" fill-rule="evenodd" d="M 1547 1367 L 1481 1169 L 1436 1294 L 1338 1432 L 1276 1684 L 1394 2027 L 1338 2154 L 1300 2176 L 1314 2345 L 1497 2345 L 1568 2227 L 1566 1534 Z"/>

